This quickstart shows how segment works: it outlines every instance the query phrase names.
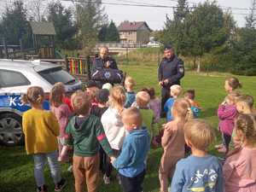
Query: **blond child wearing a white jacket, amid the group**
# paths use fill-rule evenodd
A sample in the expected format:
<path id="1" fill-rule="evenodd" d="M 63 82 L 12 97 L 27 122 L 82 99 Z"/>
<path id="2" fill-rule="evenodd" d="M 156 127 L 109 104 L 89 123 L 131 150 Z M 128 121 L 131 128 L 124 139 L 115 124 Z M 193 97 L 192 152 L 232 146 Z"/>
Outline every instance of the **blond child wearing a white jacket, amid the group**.
<path id="1" fill-rule="evenodd" d="M 110 91 L 109 108 L 102 114 L 102 125 L 108 138 L 108 143 L 115 154 L 119 154 L 125 139 L 125 128 L 121 119 L 121 113 L 125 106 L 125 90 L 122 86 L 115 86 Z M 110 183 L 110 176 L 113 169 L 108 158 L 106 162 L 106 173 L 103 177 L 105 183 Z"/>

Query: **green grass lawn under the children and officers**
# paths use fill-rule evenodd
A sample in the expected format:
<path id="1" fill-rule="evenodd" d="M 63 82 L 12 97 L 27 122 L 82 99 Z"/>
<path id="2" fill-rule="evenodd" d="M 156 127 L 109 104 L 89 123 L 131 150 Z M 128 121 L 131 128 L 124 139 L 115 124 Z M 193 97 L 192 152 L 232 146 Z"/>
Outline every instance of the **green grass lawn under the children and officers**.
<path id="1" fill-rule="evenodd" d="M 157 94 L 160 94 L 160 88 L 157 82 L 156 68 L 153 66 L 121 66 L 122 70 L 131 75 L 137 81 L 136 90 L 143 87 L 153 86 Z M 201 103 L 203 111 L 201 118 L 216 128 L 218 118 L 216 110 L 218 103 L 222 102 L 225 96 L 224 79 L 229 74 L 210 73 L 197 74 L 188 72 L 182 81 L 183 89 L 193 88 L 196 91 L 196 101 Z M 255 82 L 256 77 L 238 77 L 243 85 L 242 92 L 252 95 L 256 98 Z M 218 134 L 219 136 L 219 134 Z M 148 155 L 148 170 L 144 180 L 145 192 L 158 192 L 158 167 L 160 164 L 161 148 L 151 149 Z M 210 148 L 211 154 L 216 152 Z M 46 166 L 47 167 L 47 166 Z M 63 177 L 67 178 L 67 188 L 63 191 L 73 192 L 73 174 L 67 172 L 67 165 L 62 165 Z M 53 183 L 49 176 L 49 169 L 45 169 L 46 183 L 49 185 L 49 191 L 53 191 Z M 32 156 L 27 156 L 23 146 L 7 148 L 0 146 L 0 191 L 1 192 L 32 192 L 35 191 L 35 181 L 33 177 L 33 160 Z M 121 191 L 116 182 L 106 186 L 101 183 L 101 192 L 118 192 Z"/>

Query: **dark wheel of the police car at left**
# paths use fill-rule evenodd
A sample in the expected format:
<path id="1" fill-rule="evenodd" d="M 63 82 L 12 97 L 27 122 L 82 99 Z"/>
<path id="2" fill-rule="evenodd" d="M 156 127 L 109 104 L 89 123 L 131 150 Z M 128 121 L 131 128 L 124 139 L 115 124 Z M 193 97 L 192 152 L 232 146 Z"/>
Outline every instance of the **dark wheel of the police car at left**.
<path id="1" fill-rule="evenodd" d="M 0 115 L 0 143 L 8 146 L 23 143 L 21 117 L 15 113 Z"/>

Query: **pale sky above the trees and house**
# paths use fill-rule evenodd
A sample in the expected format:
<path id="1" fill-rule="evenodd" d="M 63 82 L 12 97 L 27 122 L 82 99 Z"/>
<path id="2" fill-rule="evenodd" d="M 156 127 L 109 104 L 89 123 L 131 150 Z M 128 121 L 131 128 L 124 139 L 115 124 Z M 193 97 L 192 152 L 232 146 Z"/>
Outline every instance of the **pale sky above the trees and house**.
<path id="1" fill-rule="evenodd" d="M 4 4 L 12 0 L 0 0 L 0 12 L 4 9 Z M 29 2 L 29 0 L 25 0 Z M 30 0 L 32 1 L 32 0 Z M 46 0 L 48 1 L 48 0 Z M 212 0 L 211 0 L 212 1 Z M 141 3 L 154 5 L 176 6 L 177 0 L 102 0 L 103 3 Z M 197 3 L 203 3 L 205 0 L 189 0 L 189 5 L 193 6 Z M 72 5 L 62 1 L 61 3 Z M 221 7 L 242 8 L 248 9 L 252 4 L 252 0 L 217 0 Z M 146 21 L 148 26 L 153 30 L 160 30 L 165 26 L 166 15 L 172 18 L 172 8 L 148 8 L 134 6 L 120 6 L 104 4 L 105 12 L 108 15 L 108 20 L 113 20 L 117 26 L 124 20 L 130 21 Z M 232 9 L 232 13 L 236 20 L 237 26 L 245 26 L 245 16 L 249 10 Z"/>

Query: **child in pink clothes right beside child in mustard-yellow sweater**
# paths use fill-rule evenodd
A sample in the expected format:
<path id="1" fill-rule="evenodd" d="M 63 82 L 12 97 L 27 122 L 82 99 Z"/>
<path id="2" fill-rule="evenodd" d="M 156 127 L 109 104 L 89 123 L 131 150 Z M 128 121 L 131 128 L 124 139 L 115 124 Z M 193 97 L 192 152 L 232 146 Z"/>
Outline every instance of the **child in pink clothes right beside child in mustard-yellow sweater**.
<path id="1" fill-rule="evenodd" d="M 49 92 L 50 111 L 55 114 L 60 125 L 60 136 L 58 137 L 59 157 L 61 156 L 60 154 L 64 145 L 64 140 L 68 137 L 66 133 L 66 126 L 68 123 L 68 117 L 71 113 L 67 104 L 63 102 L 64 95 L 65 86 L 62 83 L 56 83 Z M 64 161 L 68 161 L 68 155 L 62 158 Z"/>

